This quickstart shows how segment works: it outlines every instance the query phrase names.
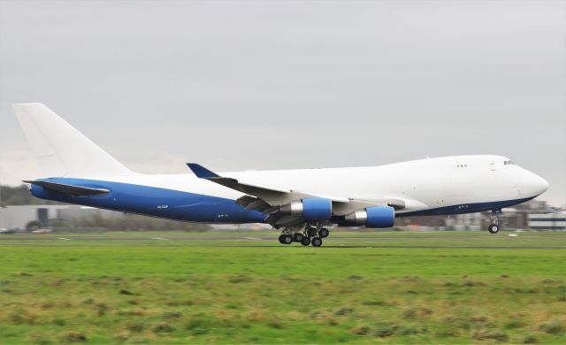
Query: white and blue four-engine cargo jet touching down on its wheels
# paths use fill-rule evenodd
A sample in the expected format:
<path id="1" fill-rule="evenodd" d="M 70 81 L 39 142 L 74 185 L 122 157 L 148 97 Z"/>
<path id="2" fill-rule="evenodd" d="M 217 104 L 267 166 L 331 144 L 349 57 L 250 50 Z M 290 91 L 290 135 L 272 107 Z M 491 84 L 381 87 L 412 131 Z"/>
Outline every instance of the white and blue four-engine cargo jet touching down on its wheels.
<path id="1" fill-rule="evenodd" d="M 387 228 L 394 219 L 492 211 L 524 203 L 547 180 L 509 158 L 432 157 L 380 166 L 214 173 L 134 173 L 42 103 L 13 109 L 45 178 L 24 180 L 39 198 L 164 219 L 264 223 L 279 242 L 320 247 L 326 226 Z"/>

